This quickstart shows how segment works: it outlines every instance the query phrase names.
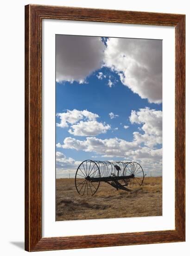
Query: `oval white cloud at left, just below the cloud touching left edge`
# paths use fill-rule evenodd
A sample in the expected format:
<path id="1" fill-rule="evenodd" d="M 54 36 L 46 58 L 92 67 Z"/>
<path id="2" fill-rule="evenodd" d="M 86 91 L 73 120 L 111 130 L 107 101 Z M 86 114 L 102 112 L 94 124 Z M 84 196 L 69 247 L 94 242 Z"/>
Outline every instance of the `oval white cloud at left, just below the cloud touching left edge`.
<path id="1" fill-rule="evenodd" d="M 71 126 L 69 133 L 76 136 L 95 136 L 105 134 L 109 129 L 111 129 L 110 125 L 105 125 L 101 122 L 80 121 Z"/>

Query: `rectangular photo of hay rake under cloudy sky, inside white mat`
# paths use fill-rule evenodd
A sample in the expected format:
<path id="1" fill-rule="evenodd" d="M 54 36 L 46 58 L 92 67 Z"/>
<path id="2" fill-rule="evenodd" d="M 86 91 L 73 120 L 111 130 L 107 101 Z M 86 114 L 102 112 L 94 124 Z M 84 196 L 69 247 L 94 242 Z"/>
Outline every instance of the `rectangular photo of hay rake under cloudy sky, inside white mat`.
<path id="1" fill-rule="evenodd" d="M 56 221 L 162 216 L 162 40 L 55 50 Z"/>

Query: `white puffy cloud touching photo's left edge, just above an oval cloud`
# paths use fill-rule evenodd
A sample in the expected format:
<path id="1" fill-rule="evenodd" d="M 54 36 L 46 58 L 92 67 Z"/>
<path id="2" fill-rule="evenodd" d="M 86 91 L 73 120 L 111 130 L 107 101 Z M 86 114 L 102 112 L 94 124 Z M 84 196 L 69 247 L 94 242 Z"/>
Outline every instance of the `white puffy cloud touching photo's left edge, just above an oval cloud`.
<path id="1" fill-rule="evenodd" d="M 62 128 L 68 127 L 68 124 L 75 124 L 82 119 L 87 119 L 88 121 L 95 121 L 96 118 L 99 117 L 99 115 L 89 112 L 88 110 L 80 111 L 77 109 L 67 109 L 67 112 L 57 113 L 57 116 L 60 118 L 60 123 L 57 123 L 56 125 Z"/>

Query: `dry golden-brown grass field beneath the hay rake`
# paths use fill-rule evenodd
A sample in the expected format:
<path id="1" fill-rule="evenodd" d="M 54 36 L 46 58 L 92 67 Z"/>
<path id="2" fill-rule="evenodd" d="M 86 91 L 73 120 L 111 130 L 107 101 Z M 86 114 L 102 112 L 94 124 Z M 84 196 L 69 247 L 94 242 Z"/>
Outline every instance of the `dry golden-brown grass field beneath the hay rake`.
<path id="1" fill-rule="evenodd" d="M 145 177 L 139 190 L 116 190 L 101 182 L 93 196 L 77 193 L 74 179 L 56 180 L 56 220 L 161 216 L 162 177 Z"/>

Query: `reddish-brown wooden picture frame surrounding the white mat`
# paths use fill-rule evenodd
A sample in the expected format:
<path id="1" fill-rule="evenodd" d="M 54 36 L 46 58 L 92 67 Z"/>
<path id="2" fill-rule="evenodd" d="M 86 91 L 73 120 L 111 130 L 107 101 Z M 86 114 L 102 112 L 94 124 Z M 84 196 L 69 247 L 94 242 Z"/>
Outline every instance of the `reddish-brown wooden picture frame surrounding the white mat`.
<path id="1" fill-rule="evenodd" d="M 175 230 L 42 238 L 42 20 L 175 27 Z M 185 15 L 25 6 L 25 250 L 43 251 L 185 241 Z"/>

